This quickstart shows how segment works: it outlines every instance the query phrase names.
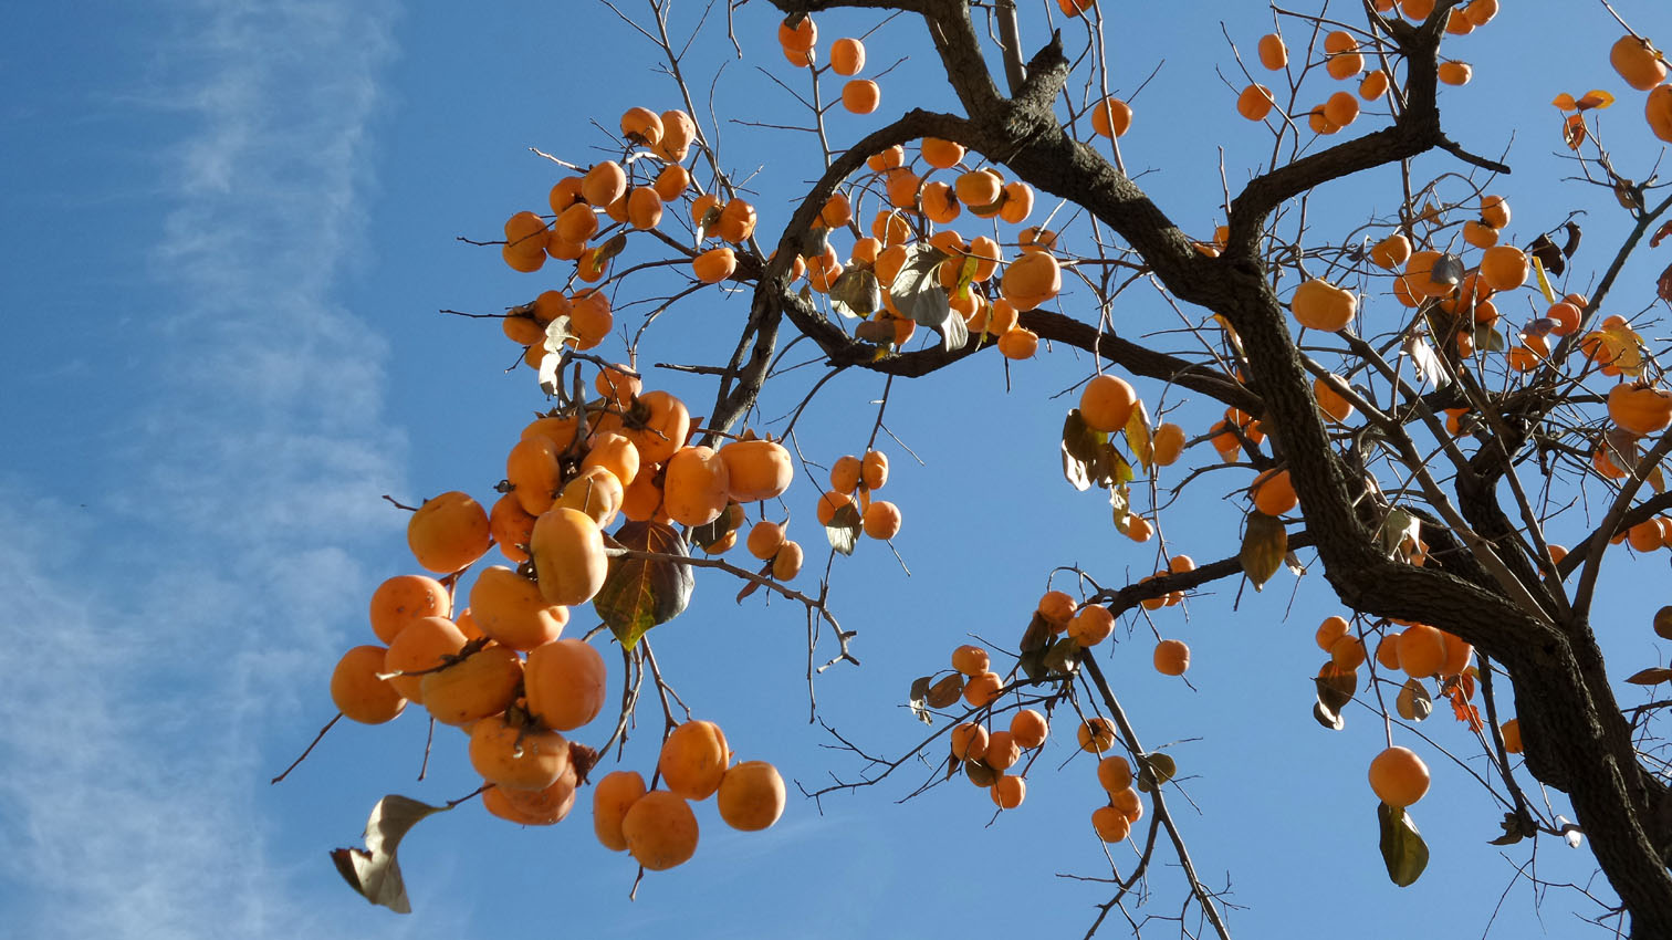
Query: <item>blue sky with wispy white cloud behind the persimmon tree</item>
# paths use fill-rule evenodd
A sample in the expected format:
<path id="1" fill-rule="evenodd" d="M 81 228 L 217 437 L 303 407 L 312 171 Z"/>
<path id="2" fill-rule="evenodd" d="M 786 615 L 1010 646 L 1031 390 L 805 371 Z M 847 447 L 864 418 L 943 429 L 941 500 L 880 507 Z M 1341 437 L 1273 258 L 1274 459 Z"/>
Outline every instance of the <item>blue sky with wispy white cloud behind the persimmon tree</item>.
<path id="1" fill-rule="evenodd" d="M 1045 3 L 1023 7 L 1043 15 Z M 1615 7 L 1672 42 L 1662 3 Z M 689 33 L 696 15 L 675 10 L 675 32 Z M 1134 97 L 1127 166 L 1145 171 L 1162 207 L 1202 238 L 1222 219 L 1221 152 L 1232 189 L 1269 154 L 1264 130 L 1234 115 L 1234 90 L 1214 75 L 1236 75 L 1221 22 L 1249 57 L 1271 25 L 1259 3 L 1202 2 L 1124 8 L 1109 33 L 1114 90 L 1130 94 L 1159 67 Z M 821 17 L 819 47 L 874 23 Z M 798 119 L 757 65 L 796 89 L 808 79 L 782 62 L 764 3 L 736 12 L 742 62 L 709 30 L 689 70 L 699 95 L 714 89 L 727 169 L 761 171 L 751 186 L 772 243 L 794 187 L 814 176 L 816 149 L 804 134 L 731 120 Z M 1510 236 L 1525 243 L 1568 209 L 1590 212 L 1572 289 L 1605 263 L 1622 214 L 1605 191 L 1560 182 L 1573 166 L 1553 152 L 1558 117 L 1547 102 L 1612 90 L 1620 104 L 1605 124 L 1629 156 L 1620 171 L 1640 179 L 1659 152 L 1640 94 L 1607 65 L 1617 35 L 1600 5 L 1506 0 L 1496 22 L 1446 45 L 1476 67 L 1468 87 L 1441 95 L 1451 135 L 1476 152 L 1506 152 L 1515 167 L 1495 186 L 1515 207 Z M 1033 764 L 1027 803 L 997 821 L 986 793 L 963 781 L 900 803 L 933 773 L 915 764 L 826 798 L 823 813 L 793 800 L 759 835 L 729 831 L 706 803 L 697 856 L 649 875 L 629 902 L 634 865 L 597 845 L 585 794 L 547 830 L 518 830 L 470 803 L 425 821 L 403 848 L 411 917 L 349 891 L 326 850 L 358 845 L 378 796 L 440 803 L 475 788 L 450 729 L 438 731 L 430 778 L 415 779 L 425 743 L 416 713 L 380 728 L 344 723 L 288 781 L 268 784 L 333 714 L 326 681 L 336 657 L 371 642 L 371 589 L 415 570 L 405 513 L 380 495 L 418 502 L 465 488 L 487 498 L 517 430 L 542 406 L 528 370 L 505 371 L 517 351 L 497 326 L 436 309 L 523 303 L 558 283 L 557 266 L 515 274 L 497 249 L 455 236 L 495 239 L 512 212 L 545 209 L 557 172 L 528 147 L 592 162 L 610 137 L 589 119 L 614 130 L 627 107 L 677 107 L 675 90 L 642 38 L 580 0 L 13 3 L 0 12 L 0 37 L 7 933 L 1083 932 L 1107 891 L 1070 878 L 1107 876 L 1109 865 L 1088 826 L 1102 800 L 1093 763 L 1060 739 L 1067 721 Z M 1027 45 L 1043 37 L 1032 20 Z M 918 22 L 900 17 L 868 45 L 866 74 L 906 62 L 883 79 L 878 114 L 831 115 L 836 147 L 908 107 L 950 104 Z M 1334 90 L 1318 87 L 1318 100 Z M 712 127 L 711 115 L 699 119 Z M 1374 117 L 1349 134 L 1369 125 Z M 1420 169 L 1466 167 L 1430 156 Z M 1389 182 L 1381 174 L 1328 186 L 1314 212 L 1344 232 L 1394 207 Z M 1629 269 L 1612 311 L 1650 304 L 1669 259 L 1660 254 Z M 1062 308 L 1073 304 L 1065 294 Z M 746 298 L 706 291 L 655 324 L 644 361 L 714 361 L 704 356 L 729 348 L 746 311 Z M 627 311 L 617 324 L 635 330 L 640 316 Z M 1117 309 L 1125 335 L 1172 326 L 1154 294 Z M 622 348 L 617 336 L 600 351 Z M 896 383 L 886 423 L 923 465 L 890 445 L 895 475 L 883 495 L 905 512 L 896 547 L 911 574 L 874 542 L 836 560 L 833 607 L 859 631 L 863 666 L 816 682 L 819 714 L 869 753 L 895 756 L 921 736 L 903 708 L 906 689 L 943 669 L 968 636 L 1013 647 L 1052 567 L 1080 564 L 1105 584 L 1154 570 L 1154 542 L 1114 532 L 1102 495 L 1058 477 L 1068 403 L 1052 396 L 1090 368 L 1072 351 L 1042 355 L 1008 370 L 1007 391 L 1002 360 L 983 353 Z M 650 375 L 707 413 L 711 386 Z M 816 376 L 786 376 L 764 403 L 762 430 Z M 1139 386 L 1152 403 L 1160 393 Z M 829 383 L 801 421 L 808 457 L 828 463 L 861 450 L 879 391 L 869 375 Z M 1212 418 L 1211 403 L 1185 401 L 1175 420 L 1200 430 Z M 1231 473 L 1204 480 L 1164 517 L 1169 544 L 1197 560 L 1234 554 L 1241 497 L 1219 497 L 1246 483 Z M 809 480 L 789 495 L 793 530 L 814 549 L 804 587 L 824 559 L 809 525 L 814 498 Z M 1588 530 L 1578 510 L 1570 515 L 1555 527 L 1560 542 Z M 1622 550 L 1605 572 L 1597 627 L 1622 677 L 1664 661 L 1649 631 L 1669 600 L 1655 590 L 1664 565 Z M 769 759 L 809 789 L 833 774 L 858 778 L 863 764 L 808 724 L 801 609 L 761 595 L 734 605 L 734 592 L 702 572 L 692 609 L 652 634 L 670 681 L 699 718 L 721 723 L 741 758 Z M 1244 592 L 1236 612 L 1234 597 L 1232 584 L 1219 584 L 1192 600 L 1189 619 L 1179 609 L 1157 616 L 1164 636 L 1192 644 L 1194 689 L 1154 674 L 1147 624 L 1117 631 L 1130 641 L 1104 656 L 1144 741 L 1172 743 L 1189 800 L 1175 793 L 1170 805 L 1202 878 L 1229 885 L 1236 935 L 1403 937 L 1445 925 L 1448 937 L 1568 937 L 1582 930 L 1575 915 L 1598 913 L 1577 891 L 1535 897 L 1518 881 L 1528 846 L 1485 845 L 1501 811 L 1409 733 L 1399 741 L 1435 769 L 1433 791 L 1413 810 L 1433 861 L 1418 885 L 1389 885 L 1364 783 L 1383 748 L 1379 721 L 1351 709 L 1348 729 L 1333 734 L 1308 714 L 1321 659 L 1313 631 L 1338 612 L 1328 585 L 1318 572 L 1299 585 L 1282 572 L 1264 594 Z M 619 657 L 607 659 L 619 682 Z M 625 766 L 649 771 L 660 719 L 644 718 Z M 577 738 L 597 743 L 604 724 Z M 1483 771 L 1478 746 L 1450 716 L 1421 731 Z M 1560 794 L 1552 800 L 1562 811 Z M 1115 858 L 1122 871 L 1132 861 L 1127 848 Z M 1137 917 L 1177 912 L 1180 888 L 1157 858 L 1154 903 L 1134 907 Z M 1555 840 L 1540 840 L 1537 866 L 1558 883 L 1587 885 L 1593 871 L 1588 851 Z M 1600 880 L 1597 890 L 1608 898 Z"/>

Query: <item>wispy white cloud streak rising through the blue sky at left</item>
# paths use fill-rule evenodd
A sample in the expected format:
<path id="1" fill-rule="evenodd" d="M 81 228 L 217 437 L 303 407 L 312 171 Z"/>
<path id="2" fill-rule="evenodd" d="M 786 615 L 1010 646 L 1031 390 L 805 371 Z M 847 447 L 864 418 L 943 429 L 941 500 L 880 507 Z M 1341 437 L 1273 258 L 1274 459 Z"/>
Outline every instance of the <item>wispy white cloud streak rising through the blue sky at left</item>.
<path id="1" fill-rule="evenodd" d="M 256 813 L 358 610 L 354 532 L 400 477 L 376 333 L 334 299 L 364 227 L 393 0 L 167 8 L 154 274 L 120 483 L 0 480 L 0 898 L 17 937 L 329 935 Z M 145 186 L 145 184 L 140 184 Z M 329 535 L 341 534 L 339 544 Z M 318 704 L 309 701 L 309 704 Z"/>

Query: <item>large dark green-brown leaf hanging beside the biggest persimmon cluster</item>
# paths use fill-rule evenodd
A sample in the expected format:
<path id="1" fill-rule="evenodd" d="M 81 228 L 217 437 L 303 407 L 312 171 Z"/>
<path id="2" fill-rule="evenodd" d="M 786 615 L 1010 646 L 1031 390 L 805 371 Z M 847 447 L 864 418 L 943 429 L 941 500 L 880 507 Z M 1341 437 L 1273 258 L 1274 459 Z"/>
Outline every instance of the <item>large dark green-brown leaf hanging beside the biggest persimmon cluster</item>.
<path id="1" fill-rule="evenodd" d="M 679 532 L 660 522 L 629 522 L 615 530 L 615 542 L 624 549 L 691 557 Z M 622 647 L 632 649 L 650 627 L 682 614 L 696 585 L 691 565 L 669 559 L 615 557 L 610 559 L 604 589 L 592 599 L 592 609 Z"/>

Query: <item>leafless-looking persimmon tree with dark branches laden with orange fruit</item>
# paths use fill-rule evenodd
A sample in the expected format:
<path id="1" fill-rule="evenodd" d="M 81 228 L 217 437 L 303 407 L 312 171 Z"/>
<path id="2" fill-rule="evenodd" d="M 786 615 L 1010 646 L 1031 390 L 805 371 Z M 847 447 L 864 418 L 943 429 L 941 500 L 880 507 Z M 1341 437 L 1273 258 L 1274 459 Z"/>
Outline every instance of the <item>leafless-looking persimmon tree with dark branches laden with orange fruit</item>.
<path id="1" fill-rule="evenodd" d="M 731 579 L 739 602 L 772 594 L 804 617 L 809 682 L 858 667 L 831 584 L 841 555 L 905 525 L 883 498 L 891 391 L 978 356 L 1040 360 L 1027 368 L 1073 390 L 1070 408 L 1040 403 L 1063 423 L 1067 485 L 1105 495 L 1112 525 L 1154 544 L 1155 574 L 1125 582 L 1047 562 L 1040 594 L 1017 602 L 1023 631 L 991 649 L 950 634 L 948 662 L 913 684 L 921 743 L 873 756 L 838 738 L 858 766 L 803 793 L 823 803 L 928 759 L 938 773 L 916 798 L 963 776 L 998 811 L 1025 811 L 1032 774 L 1082 768 L 1048 771 L 1045 748 L 1087 751 L 1109 794 L 1087 838 L 1134 848 L 1110 856 L 1092 932 L 1115 912 L 1134 930 L 1149 923 L 1129 907 L 1165 868 L 1184 920 L 1229 937 L 1169 808 L 1174 758 L 1145 748 L 1142 708 L 1105 674 L 1107 641 L 1152 636 L 1154 669 L 1187 676 L 1192 651 L 1169 607 L 1214 582 L 1261 589 L 1304 567 L 1341 604 L 1318 627 L 1326 659 L 1304 694 L 1326 728 L 1343 729 L 1349 704 L 1381 726 L 1386 748 L 1366 774 L 1391 880 L 1409 885 L 1428 858 L 1415 825 L 1426 761 L 1466 753 L 1501 803 L 1501 820 L 1485 820 L 1501 826 L 1498 845 L 1583 836 L 1618 898 L 1598 920 L 1672 937 L 1659 729 L 1672 702 L 1617 697 L 1617 682 L 1657 686 L 1672 671 L 1605 662 L 1592 624 L 1603 565 L 1654 565 L 1639 555 L 1672 545 L 1672 391 L 1642 335 L 1672 301 L 1672 266 L 1659 283 L 1624 276 L 1672 231 L 1655 182 L 1672 85 L 1649 37 L 1603 3 L 1587 8 L 1622 35 L 1582 52 L 1597 84 L 1617 75 L 1630 90 L 1552 102 L 1548 142 L 1572 161 L 1573 186 L 1607 187 L 1627 219 L 1582 269 L 1573 216 L 1511 244 L 1500 184 L 1513 167 L 1441 117 L 1441 89 L 1471 77 L 1453 49 L 1490 37 L 1496 0 L 1274 7 L 1269 35 L 1227 35 L 1222 114 L 1262 125 L 1269 151 L 1241 167 L 1244 182 L 1212 181 L 1222 217 L 1195 232 L 1125 169 L 1122 142 L 1144 115 L 1110 87 L 1140 77 L 1110 69 L 1107 5 L 772 0 L 782 22 L 767 37 L 709 10 L 697 28 L 762 62 L 799 114 L 772 125 L 811 140 L 806 161 L 771 167 L 777 186 L 811 179 L 782 212 L 757 209 L 754 184 L 729 169 L 702 119 L 727 102 L 704 100 L 686 74 L 689 37 L 670 32 L 670 5 L 609 7 L 664 57 L 669 100 L 595 115 L 609 159 L 580 159 L 579 142 L 540 152 L 547 206 L 513 214 L 503 239 L 477 239 L 540 273 L 527 303 L 475 316 L 523 348 L 545 411 L 508 447 L 492 510 L 463 492 L 403 507 L 430 575 L 378 589 L 371 626 L 386 649 L 356 647 L 338 666 L 344 716 L 380 723 L 423 704 L 468 729 L 488 781 L 470 796 L 492 813 L 550 825 L 579 793 L 597 838 L 645 870 L 696 855 L 691 801 L 717 794 L 739 830 L 772 825 L 784 781 L 764 761 L 732 766 L 719 724 L 674 692 L 681 664 L 657 662 L 654 627 L 727 594 L 694 590 L 699 580 Z M 918 20 L 958 107 L 913 107 L 863 33 L 821 35 L 819 13 L 839 7 Z M 834 109 L 874 125 L 841 139 L 826 122 Z M 736 117 L 776 120 L 757 107 Z M 1391 207 L 1323 209 L 1358 179 L 1396 181 L 1378 192 Z M 1139 296 L 1167 319 L 1134 313 Z M 722 361 L 677 366 L 707 383 L 696 406 L 659 390 L 647 363 L 659 318 L 704 301 L 742 326 Z M 823 378 L 796 385 L 804 365 Z M 866 447 L 806 453 L 798 423 L 829 376 L 853 371 L 879 383 Z M 1185 400 L 1224 418 L 1165 420 Z M 1085 525 L 1109 525 L 1097 505 Z M 1239 513 L 1239 549 L 1185 555 L 1165 529 L 1182 507 Z M 1580 520 L 1573 545 L 1555 544 L 1557 527 Z M 1652 627 L 1672 639 L 1672 607 Z M 622 687 L 605 654 L 622 661 Z M 1415 733 L 1435 699 L 1456 729 Z M 659 763 L 600 764 L 640 713 L 662 718 Z M 1565 793 L 1577 820 L 1540 788 Z M 395 843 L 461 800 L 385 800 L 368 848 L 339 850 L 338 866 L 403 908 Z"/>

